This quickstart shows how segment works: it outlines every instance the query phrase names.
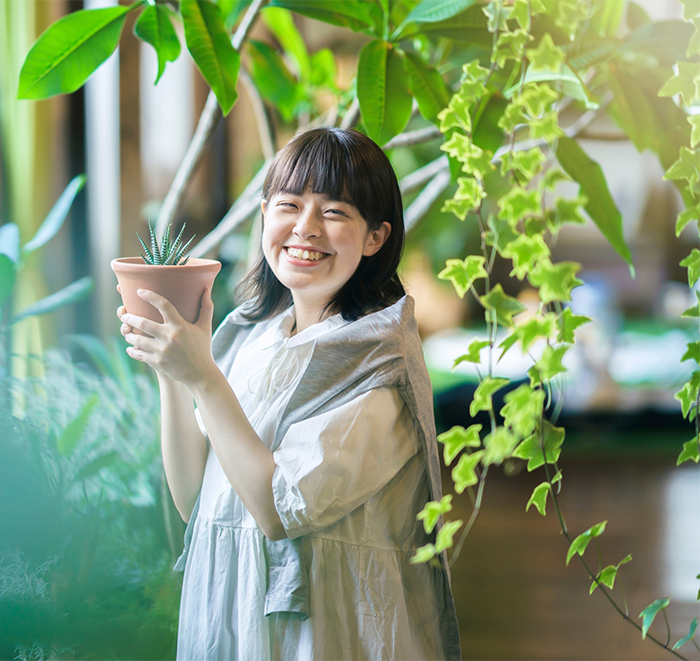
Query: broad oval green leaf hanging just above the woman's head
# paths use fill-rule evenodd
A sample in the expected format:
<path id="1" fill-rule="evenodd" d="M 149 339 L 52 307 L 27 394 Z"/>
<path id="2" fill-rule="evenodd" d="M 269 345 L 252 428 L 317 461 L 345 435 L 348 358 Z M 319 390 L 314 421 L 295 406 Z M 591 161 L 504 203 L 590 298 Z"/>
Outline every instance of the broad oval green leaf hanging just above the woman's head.
<path id="1" fill-rule="evenodd" d="M 365 44 L 357 64 L 357 99 L 369 136 L 383 145 L 403 131 L 411 117 L 411 95 L 403 58 L 388 42 Z"/>

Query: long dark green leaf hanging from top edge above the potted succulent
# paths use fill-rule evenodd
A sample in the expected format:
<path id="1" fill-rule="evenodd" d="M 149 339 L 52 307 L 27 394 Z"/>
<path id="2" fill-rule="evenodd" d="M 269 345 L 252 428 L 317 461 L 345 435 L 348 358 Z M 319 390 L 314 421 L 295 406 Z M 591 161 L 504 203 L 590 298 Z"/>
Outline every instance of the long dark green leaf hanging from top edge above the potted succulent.
<path id="1" fill-rule="evenodd" d="M 236 102 L 241 58 L 231 45 L 221 11 L 210 0 L 182 0 L 185 41 L 224 115 Z"/>

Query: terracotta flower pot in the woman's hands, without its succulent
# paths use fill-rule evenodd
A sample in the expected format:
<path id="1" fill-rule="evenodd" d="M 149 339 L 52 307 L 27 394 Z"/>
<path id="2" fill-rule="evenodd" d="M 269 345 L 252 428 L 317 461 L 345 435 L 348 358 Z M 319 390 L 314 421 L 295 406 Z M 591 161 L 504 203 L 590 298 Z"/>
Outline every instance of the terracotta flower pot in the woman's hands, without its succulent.
<path id="1" fill-rule="evenodd" d="M 199 317 L 202 294 L 221 270 L 221 262 L 197 258 L 190 258 L 184 266 L 153 266 L 141 257 L 123 257 L 112 260 L 111 266 L 127 312 L 158 323 L 163 323 L 162 315 L 136 293 L 138 289 L 164 296 L 186 321 L 194 323 Z"/>

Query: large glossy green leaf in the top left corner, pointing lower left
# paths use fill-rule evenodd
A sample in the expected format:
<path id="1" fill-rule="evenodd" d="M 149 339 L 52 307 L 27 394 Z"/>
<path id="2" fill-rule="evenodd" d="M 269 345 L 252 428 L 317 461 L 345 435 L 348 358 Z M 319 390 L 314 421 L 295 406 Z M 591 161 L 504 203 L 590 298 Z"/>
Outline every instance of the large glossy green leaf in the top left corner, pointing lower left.
<path id="1" fill-rule="evenodd" d="M 32 46 L 19 74 L 18 99 L 46 99 L 81 87 L 115 50 L 129 7 L 81 9 L 64 16 Z"/>

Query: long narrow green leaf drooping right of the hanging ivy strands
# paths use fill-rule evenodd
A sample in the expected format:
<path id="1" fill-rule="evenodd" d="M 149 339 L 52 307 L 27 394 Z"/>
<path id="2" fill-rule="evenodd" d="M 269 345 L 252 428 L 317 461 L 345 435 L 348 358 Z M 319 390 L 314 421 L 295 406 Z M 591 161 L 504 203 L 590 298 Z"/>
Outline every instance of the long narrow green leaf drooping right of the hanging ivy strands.
<path id="1" fill-rule="evenodd" d="M 586 154 L 576 140 L 566 137 L 559 139 L 557 160 L 566 173 L 578 182 L 581 193 L 588 198 L 584 208 L 591 220 L 630 265 L 630 272 L 634 274 L 632 255 L 622 235 L 622 214 L 610 195 L 600 165 Z"/>

